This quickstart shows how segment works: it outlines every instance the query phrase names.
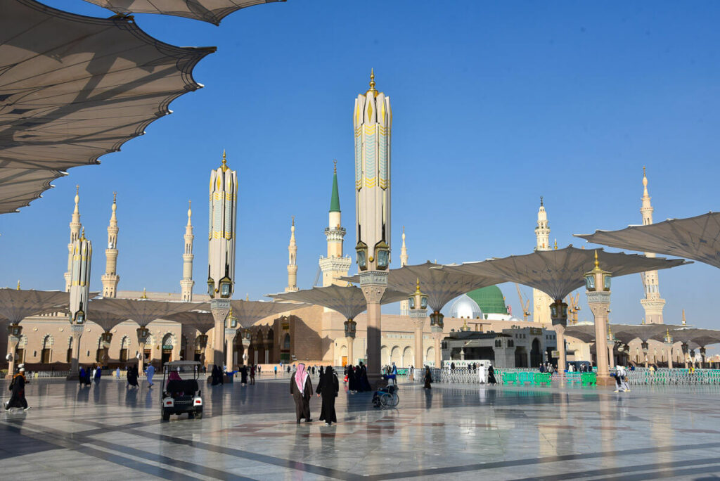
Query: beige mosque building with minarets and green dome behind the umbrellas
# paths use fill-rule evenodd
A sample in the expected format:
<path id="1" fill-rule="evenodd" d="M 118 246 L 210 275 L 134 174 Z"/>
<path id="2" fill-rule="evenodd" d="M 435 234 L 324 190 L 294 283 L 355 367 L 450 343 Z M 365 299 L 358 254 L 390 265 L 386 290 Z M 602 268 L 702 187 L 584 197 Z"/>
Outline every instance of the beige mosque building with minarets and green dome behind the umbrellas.
<path id="1" fill-rule="evenodd" d="M 372 84 L 374 88 L 374 81 Z M 223 166 L 225 154 L 223 154 Z M 348 276 L 352 260 L 343 252 L 343 240 L 346 229 L 342 224 L 340 202 L 340 189 L 338 187 L 337 164 L 333 166 L 333 178 L 330 189 L 330 208 L 328 210 L 328 226 L 324 229 L 327 250 L 325 256 L 320 256 L 319 266 L 323 274 L 323 286 L 332 284 L 345 286 L 348 283 L 343 277 Z M 652 206 L 647 194 L 647 177 L 643 176 L 644 195 L 642 199 L 642 215 L 645 223 L 652 223 Z M 211 199 L 212 202 L 212 199 Z M 191 206 L 192 207 L 192 206 Z M 113 196 L 111 217 L 107 228 L 107 249 L 105 250 L 105 271 L 102 274 L 102 295 L 104 297 L 118 297 L 128 299 L 154 299 L 154 300 L 182 300 L 193 302 L 206 302 L 207 294 L 193 293 L 193 226 L 192 209 L 187 210 L 187 223 L 184 230 L 183 251 L 179 258 L 182 260 L 180 292 L 145 292 L 145 289 L 122 291 L 118 290 L 120 275 L 118 269 L 118 238 L 120 233 L 117 217 L 117 196 Z M 80 194 L 79 188 L 74 198 L 74 208 L 70 222 L 70 240 L 75 241 L 81 233 L 80 222 Z M 298 245 L 295 238 L 294 218 L 290 226 L 290 240 L 288 246 L 287 287 L 285 292 L 300 289 L 297 285 L 297 252 Z M 549 250 L 549 222 L 541 199 L 537 215 L 536 249 Z M 389 233 L 388 233 L 389 237 Z M 652 255 L 652 254 L 647 254 Z M 71 259 L 71 258 L 70 258 Z M 408 247 L 406 244 L 405 228 L 402 229 L 402 246 L 400 248 L 400 265 L 408 264 Z M 68 261 L 69 262 L 69 261 Z M 69 271 L 68 267 L 68 271 Z M 65 274 L 65 287 L 69 289 L 69 276 Z M 648 323 L 662 323 L 662 306 L 665 300 L 660 299 L 657 272 L 644 274 L 646 297 L 642 305 L 646 310 Z M 505 297 L 498 286 L 475 289 L 457 298 L 449 305 L 444 318 L 444 333 L 446 343 L 443 345 L 448 360 L 467 360 L 470 354 L 463 354 L 462 347 L 454 351 L 453 343 L 467 341 L 477 344 L 477 352 L 483 352 L 492 359 L 493 356 L 502 357 L 506 367 L 531 366 L 540 359 L 547 360 L 552 356 L 556 346 L 555 333 L 549 318 L 549 305 L 552 300 L 542 292 L 534 292 L 534 318 L 532 321 L 521 320 L 510 314 L 505 304 Z M 334 364 L 341 366 L 366 359 L 367 352 L 367 323 L 366 314 L 356 316 L 356 337 L 349 340 L 353 342 L 348 350 L 348 338 L 345 335 L 343 315 L 336 311 L 316 305 L 298 306 L 287 312 L 273 315 L 258 321 L 247 331 L 250 333 L 249 346 L 243 346 L 243 336 L 235 336 L 233 347 L 233 366 L 247 362 L 251 364 L 276 364 L 279 361 L 294 362 L 305 361 L 310 363 Z M 103 329 L 91 322 L 91 309 L 88 313 L 88 323 L 80 339 L 80 363 L 104 364 L 108 367 L 124 365 L 128 359 L 135 358 L 138 352 L 137 325 L 130 321 L 121 323 L 112 329 L 112 343 L 109 349 L 104 349 L 101 334 Z M 24 329 L 18 346 L 18 362 L 27 364 L 30 370 L 67 369 L 71 360 L 73 338 L 70 323 L 66 313 L 50 313 L 32 316 L 23 320 Z M 166 320 L 156 320 L 148 325 L 150 340 L 145 345 L 142 354 L 146 361 L 168 361 L 178 359 L 196 359 L 210 361 L 212 359 L 212 329 L 207 332 L 210 339 L 207 341 L 206 351 L 199 349 L 197 338 L 199 331 L 185 325 Z M 590 359 L 590 344 L 579 339 L 568 338 L 568 360 Z M 247 343 L 246 343 L 247 344 Z M 650 361 L 662 362 L 662 343 L 650 346 L 650 355 L 655 357 Z M 423 327 L 423 348 L 415 352 L 415 333 L 413 321 L 408 315 L 407 302 L 401 302 L 400 314 L 382 314 L 381 362 L 390 364 L 395 362 L 398 367 L 420 366 L 433 364 L 436 344 L 431 336 L 429 318 Z M 631 359 L 641 361 L 643 353 L 639 346 L 630 346 Z M 653 351 L 654 349 L 654 351 Z M 497 352 L 496 352 L 497 350 Z M 354 353 L 353 359 L 348 359 L 348 351 Z M 660 356 L 657 353 L 660 351 Z M 472 353 L 473 351 L 469 351 Z M 627 354 L 627 353 L 626 353 Z M 456 356 L 465 357 L 460 359 Z M 675 349 L 673 356 L 683 356 L 680 349 Z M 644 359 L 642 359 L 644 360 Z"/>

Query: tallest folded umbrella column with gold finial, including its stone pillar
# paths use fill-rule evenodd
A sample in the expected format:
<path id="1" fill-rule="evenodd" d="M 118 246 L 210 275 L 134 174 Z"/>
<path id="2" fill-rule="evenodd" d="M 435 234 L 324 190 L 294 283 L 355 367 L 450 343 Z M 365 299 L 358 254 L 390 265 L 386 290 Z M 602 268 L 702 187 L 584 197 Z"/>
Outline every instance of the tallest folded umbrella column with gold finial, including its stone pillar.
<path id="1" fill-rule="evenodd" d="M 355 99 L 356 246 L 360 288 L 367 302 L 367 375 L 380 379 L 380 301 L 390 266 L 390 98 L 370 88 Z"/>

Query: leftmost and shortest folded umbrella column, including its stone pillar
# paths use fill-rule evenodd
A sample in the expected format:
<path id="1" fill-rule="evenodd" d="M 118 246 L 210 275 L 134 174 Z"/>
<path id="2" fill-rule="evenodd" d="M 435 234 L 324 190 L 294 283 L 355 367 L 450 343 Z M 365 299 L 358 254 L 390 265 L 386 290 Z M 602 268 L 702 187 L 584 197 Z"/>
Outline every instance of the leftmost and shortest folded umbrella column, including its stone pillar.
<path id="1" fill-rule="evenodd" d="M 70 271 L 70 332 L 73 338 L 73 353 L 68 380 L 78 379 L 78 357 L 80 338 L 85 329 L 86 312 L 90 296 L 90 266 L 92 243 L 85 238 L 83 228 L 80 238 L 73 242 L 73 257 Z"/>

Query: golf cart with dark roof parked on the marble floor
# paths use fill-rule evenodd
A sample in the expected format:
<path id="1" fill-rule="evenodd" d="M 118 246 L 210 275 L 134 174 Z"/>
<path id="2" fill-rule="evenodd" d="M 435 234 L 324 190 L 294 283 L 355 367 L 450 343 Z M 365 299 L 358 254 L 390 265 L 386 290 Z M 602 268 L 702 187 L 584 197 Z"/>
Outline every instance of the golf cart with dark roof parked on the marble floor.
<path id="1" fill-rule="evenodd" d="M 163 421 L 171 414 L 187 413 L 188 418 L 202 419 L 202 391 L 197 385 L 198 361 L 172 361 L 163 366 L 163 389 L 160 407 Z"/>

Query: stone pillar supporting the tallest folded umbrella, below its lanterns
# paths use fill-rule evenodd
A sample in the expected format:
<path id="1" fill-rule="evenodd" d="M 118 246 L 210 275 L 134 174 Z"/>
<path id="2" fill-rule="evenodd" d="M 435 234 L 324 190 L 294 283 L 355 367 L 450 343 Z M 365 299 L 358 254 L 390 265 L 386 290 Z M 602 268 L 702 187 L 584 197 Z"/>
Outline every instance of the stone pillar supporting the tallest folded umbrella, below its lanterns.
<path id="1" fill-rule="evenodd" d="M 382 379 L 380 374 L 380 346 L 382 343 L 380 300 L 387 289 L 387 271 L 361 272 L 360 288 L 367 302 L 367 377 L 370 385 L 374 387 Z"/>

